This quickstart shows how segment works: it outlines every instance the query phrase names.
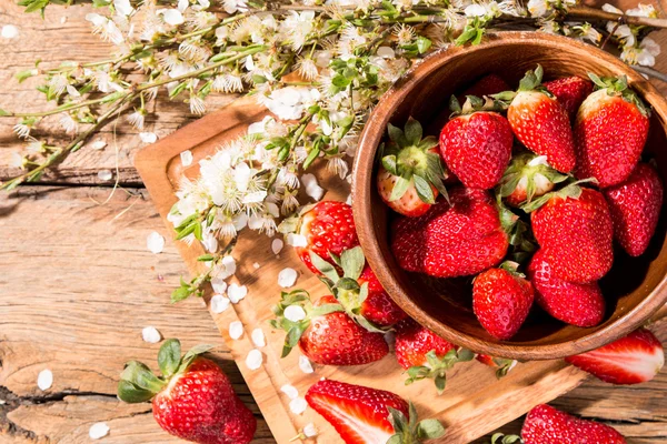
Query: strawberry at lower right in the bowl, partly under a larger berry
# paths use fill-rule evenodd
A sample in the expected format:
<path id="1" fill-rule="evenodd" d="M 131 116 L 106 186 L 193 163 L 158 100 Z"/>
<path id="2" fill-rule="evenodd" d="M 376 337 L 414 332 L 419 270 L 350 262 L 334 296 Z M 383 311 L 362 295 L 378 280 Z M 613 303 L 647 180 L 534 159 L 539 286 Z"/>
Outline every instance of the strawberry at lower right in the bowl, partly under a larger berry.
<path id="1" fill-rule="evenodd" d="M 597 282 L 576 284 L 555 278 L 547 254 L 539 250 L 528 264 L 535 300 L 551 316 L 577 326 L 594 326 L 605 316 L 605 299 Z"/>

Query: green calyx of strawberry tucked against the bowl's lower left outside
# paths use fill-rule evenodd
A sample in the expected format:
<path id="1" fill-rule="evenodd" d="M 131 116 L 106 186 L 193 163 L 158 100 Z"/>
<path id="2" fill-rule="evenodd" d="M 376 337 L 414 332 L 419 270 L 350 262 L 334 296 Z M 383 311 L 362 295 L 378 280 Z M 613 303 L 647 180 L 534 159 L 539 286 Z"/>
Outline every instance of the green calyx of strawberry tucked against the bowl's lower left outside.
<path id="1" fill-rule="evenodd" d="M 366 264 L 361 246 L 344 251 L 340 258 L 331 254 L 331 259 L 342 269 L 342 276 L 338 274 L 336 266 L 310 252 L 312 265 L 322 273 L 320 280 L 329 287 L 347 315 L 371 333 L 387 333 L 388 327 L 381 327 L 361 314 L 361 305 L 368 297 L 368 282 L 359 284 L 359 276 Z"/>

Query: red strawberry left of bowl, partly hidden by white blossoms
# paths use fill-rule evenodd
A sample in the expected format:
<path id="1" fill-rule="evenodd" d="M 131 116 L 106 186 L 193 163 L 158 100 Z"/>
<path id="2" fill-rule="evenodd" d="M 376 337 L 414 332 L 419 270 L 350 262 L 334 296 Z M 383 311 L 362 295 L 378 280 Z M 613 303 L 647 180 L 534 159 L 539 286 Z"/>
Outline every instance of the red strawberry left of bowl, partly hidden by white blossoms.
<path id="1" fill-rule="evenodd" d="M 310 253 L 332 263 L 330 254 L 359 245 L 352 208 L 345 202 L 322 201 L 301 214 L 297 233 L 306 238 L 306 246 L 297 248 L 297 254 L 308 269 L 319 274 L 312 265 Z"/>

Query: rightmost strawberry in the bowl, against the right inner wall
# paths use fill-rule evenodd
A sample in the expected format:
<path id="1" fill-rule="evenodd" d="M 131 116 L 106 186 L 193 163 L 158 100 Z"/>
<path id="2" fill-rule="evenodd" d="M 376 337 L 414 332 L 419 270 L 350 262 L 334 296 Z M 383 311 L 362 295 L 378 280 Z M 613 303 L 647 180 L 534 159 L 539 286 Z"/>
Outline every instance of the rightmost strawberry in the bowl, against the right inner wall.
<path id="1" fill-rule="evenodd" d="M 631 256 L 646 251 L 663 206 L 663 182 L 654 168 L 639 163 L 630 176 L 604 191 L 614 238 Z"/>

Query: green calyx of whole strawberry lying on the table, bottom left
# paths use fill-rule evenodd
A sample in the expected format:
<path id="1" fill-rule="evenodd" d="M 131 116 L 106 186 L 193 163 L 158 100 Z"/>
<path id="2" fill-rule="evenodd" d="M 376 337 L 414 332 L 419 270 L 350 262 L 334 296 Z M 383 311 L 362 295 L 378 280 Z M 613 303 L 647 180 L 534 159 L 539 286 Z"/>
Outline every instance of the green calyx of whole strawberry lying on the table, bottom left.
<path id="1" fill-rule="evenodd" d="M 156 376 L 146 364 L 130 361 L 120 374 L 118 397 L 132 404 L 151 400 L 169 384 L 169 381 L 183 374 L 197 356 L 212 347 L 207 344 L 197 345 L 181 357 L 180 341 L 165 341 L 158 352 L 158 365 L 162 375 Z"/>

